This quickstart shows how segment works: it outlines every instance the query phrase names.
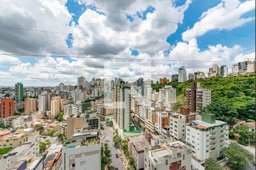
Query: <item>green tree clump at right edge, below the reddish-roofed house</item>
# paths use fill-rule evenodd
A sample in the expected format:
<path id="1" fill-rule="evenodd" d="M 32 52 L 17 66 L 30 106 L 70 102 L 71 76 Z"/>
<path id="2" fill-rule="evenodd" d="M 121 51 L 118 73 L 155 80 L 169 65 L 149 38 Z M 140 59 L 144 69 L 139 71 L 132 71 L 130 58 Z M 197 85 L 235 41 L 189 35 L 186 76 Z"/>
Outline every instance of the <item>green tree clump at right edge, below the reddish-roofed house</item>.
<path id="1" fill-rule="evenodd" d="M 238 142 L 247 145 L 255 145 L 255 131 L 249 131 L 249 127 L 245 125 L 236 126 L 233 130 L 234 134 L 238 134 Z"/>

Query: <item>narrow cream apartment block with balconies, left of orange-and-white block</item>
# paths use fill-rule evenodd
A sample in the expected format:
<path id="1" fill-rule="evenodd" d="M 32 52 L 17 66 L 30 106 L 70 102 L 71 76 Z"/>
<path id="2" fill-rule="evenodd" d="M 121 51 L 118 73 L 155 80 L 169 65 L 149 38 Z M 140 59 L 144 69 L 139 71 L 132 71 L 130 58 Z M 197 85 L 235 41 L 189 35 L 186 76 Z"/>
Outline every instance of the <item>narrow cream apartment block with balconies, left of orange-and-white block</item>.
<path id="1" fill-rule="evenodd" d="M 155 131 L 155 122 L 156 122 L 156 109 L 148 108 L 146 120 L 145 120 L 145 131 L 147 133 L 154 134 L 156 132 Z"/>

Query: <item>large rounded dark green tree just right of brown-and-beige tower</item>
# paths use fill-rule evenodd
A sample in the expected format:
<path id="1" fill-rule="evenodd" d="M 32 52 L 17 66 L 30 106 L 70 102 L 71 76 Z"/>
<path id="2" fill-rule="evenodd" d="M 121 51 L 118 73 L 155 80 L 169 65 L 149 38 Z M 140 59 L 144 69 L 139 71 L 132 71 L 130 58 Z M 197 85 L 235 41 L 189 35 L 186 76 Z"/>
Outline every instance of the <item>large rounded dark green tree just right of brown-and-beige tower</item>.
<path id="1" fill-rule="evenodd" d="M 201 109 L 201 113 L 213 113 L 216 114 L 216 119 L 225 122 L 235 122 L 238 117 L 236 109 L 234 109 L 232 103 L 228 103 L 225 100 L 215 100 L 207 107 Z"/>

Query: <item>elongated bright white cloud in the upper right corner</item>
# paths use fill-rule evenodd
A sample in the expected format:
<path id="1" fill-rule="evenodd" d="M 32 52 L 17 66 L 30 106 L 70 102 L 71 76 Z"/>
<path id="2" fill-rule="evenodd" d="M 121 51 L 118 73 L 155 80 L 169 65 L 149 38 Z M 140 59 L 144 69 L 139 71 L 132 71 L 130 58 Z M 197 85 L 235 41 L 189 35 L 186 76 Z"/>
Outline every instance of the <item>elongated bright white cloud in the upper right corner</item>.
<path id="1" fill-rule="evenodd" d="M 189 41 L 204 35 L 209 29 L 231 30 L 254 20 L 255 17 L 241 18 L 243 14 L 255 8 L 255 1 L 222 0 L 216 7 L 203 12 L 200 21 L 193 28 L 182 33 L 182 39 Z"/>

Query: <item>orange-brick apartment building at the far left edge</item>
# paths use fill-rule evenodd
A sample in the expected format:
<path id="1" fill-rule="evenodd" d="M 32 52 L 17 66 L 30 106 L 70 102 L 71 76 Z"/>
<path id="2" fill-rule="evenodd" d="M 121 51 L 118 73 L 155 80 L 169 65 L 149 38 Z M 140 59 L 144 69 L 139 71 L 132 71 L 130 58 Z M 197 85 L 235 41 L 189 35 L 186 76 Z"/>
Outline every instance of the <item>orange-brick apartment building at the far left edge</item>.
<path id="1" fill-rule="evenodd" d="M 14 116 L 14 100 L 13 98 L 1 99 L 1 118 Z"/>

